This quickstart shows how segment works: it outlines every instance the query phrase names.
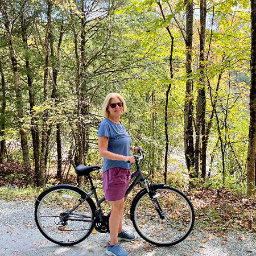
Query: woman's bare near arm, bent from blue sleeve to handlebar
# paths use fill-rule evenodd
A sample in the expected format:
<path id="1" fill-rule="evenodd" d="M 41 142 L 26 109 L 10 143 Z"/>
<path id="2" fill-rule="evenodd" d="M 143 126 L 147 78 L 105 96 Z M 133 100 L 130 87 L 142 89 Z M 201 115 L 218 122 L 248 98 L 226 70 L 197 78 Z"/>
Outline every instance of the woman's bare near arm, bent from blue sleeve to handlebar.
<path id="1" fill-rule="evenodd" d="M 98 137 L 98 151 L 103 158 L 108 158 L 110 160 L 121 160 L 126 162 L 130 161 L 131 163 L 134 163 L 133 156 L 119 155 L 108 151 L 108 144 L 108 137 Z"/>

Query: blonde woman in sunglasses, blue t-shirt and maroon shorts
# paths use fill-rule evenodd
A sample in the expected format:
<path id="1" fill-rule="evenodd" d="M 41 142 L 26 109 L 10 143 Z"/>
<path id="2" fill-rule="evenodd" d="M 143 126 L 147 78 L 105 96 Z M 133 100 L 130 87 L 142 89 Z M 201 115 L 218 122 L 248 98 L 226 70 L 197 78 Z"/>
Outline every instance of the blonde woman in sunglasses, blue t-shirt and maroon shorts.
<path id="1" fill-rule="evenodd" d="M 109 218 L 110 243 L 106 254 L 127 256 L 118 241 L 131 241 L 135 237 L 122 229 L 123 203 L 131 179 L 131 164 L 134 157 L 130 150 L 137 152 L 141 147 L 131 147 L 130 135 L 123 127 L 120 116 L 126 112 L 125 100 L 118 93 L 106 96 L 102 105 L 105 119 L 98 129 L 98 150 L 104 158 L 103 187 L 105 198 L 111 201 Z"/>

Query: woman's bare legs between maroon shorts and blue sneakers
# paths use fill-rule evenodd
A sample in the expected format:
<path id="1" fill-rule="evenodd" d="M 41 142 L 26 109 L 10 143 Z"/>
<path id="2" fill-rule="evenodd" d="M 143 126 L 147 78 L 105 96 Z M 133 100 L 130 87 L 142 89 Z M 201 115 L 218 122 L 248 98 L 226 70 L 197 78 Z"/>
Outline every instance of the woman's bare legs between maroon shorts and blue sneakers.
<path id="1" fill-rule="evenodd" d="M 111 214 L 109 218 L 109 230 L 110 230 L 110 245 L 115 245 L 119 228 L 122 232 L 122 214 L 123 214 L 123 202 L 124 199 L 111 202 Z"/>

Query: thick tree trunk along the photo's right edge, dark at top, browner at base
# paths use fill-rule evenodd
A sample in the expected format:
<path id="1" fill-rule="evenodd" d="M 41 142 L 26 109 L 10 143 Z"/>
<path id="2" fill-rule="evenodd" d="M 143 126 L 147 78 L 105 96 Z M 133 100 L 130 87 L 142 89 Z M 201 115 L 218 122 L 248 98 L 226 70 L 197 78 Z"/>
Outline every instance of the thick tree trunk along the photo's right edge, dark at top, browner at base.
<path id="1" fill-rule="evenodd" d="M 251 0 L 251 89 L 250 127 L 247 152 L 247 195 L 255 195 L 255 152 L 256 152 L 256 0 Z"/>

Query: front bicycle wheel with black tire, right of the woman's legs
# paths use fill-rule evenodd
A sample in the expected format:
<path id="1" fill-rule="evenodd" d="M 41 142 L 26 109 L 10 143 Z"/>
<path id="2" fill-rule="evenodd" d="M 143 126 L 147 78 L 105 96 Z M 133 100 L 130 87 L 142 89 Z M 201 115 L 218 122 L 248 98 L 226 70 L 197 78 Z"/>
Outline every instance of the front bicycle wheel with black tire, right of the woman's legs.
<path id="1" fill-rule="evenodd" d="M 164 218 L 160 218 L 147 190 L 142 189 L 131 205 L 131 220 L 139 236 L 158 246 L 183 241 L 195 222 L 191 201 L 178 189 L 164 184 L 152 185 L 151 190 Z"/>

